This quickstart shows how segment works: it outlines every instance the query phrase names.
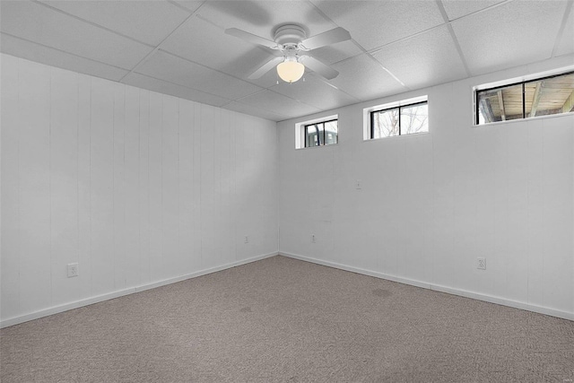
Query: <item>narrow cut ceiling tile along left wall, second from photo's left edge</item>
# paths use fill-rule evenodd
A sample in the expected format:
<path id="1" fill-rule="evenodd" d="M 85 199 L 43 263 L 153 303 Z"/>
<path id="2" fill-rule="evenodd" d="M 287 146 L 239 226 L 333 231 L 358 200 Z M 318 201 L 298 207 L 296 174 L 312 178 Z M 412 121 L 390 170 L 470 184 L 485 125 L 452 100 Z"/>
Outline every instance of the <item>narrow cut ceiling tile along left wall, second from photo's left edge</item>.
<path id="1" fill-rule="evenodd" d="M 196 91 L 195 89 L 189 89 L 185 86 L 180 86 L 174 83 L 167 83 L 152 77 L 144 76 L 143 74 L 128 74 L 122 83 L 133 85 L 142 89 L 147 89 L 148 91 L 157 91 L 164 94 L 170 94 L 171 96 L 186 100 L 203 102 L 204 104 L 213 105 L 215 107 L 221 107 L 230 102 L 230 100 L 214 96 L 213 94 L 205 93 L 204 91 Z"/>

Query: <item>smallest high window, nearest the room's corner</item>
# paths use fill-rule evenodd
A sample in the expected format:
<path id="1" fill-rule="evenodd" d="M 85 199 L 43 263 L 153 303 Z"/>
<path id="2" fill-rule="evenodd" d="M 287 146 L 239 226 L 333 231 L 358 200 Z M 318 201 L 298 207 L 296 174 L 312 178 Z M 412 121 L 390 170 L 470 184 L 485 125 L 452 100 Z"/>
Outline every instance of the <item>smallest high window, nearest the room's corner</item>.
<path id="1" fill-rule="evenodd" d="M 295 147 L 297 149 L 338 143 L 338 115 L 295 124 Z"/>

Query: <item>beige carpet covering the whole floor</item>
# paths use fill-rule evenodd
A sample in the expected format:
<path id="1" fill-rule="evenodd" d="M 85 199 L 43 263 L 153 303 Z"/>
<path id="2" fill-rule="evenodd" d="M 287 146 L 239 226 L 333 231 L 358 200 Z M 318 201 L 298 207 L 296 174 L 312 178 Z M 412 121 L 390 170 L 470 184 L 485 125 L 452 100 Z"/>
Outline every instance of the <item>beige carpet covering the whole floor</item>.
<path id="1" fill-rule="evenodd" d="M 8 382 L 570 382 L 574 322 L 272 257 L 0 331 Z"/>

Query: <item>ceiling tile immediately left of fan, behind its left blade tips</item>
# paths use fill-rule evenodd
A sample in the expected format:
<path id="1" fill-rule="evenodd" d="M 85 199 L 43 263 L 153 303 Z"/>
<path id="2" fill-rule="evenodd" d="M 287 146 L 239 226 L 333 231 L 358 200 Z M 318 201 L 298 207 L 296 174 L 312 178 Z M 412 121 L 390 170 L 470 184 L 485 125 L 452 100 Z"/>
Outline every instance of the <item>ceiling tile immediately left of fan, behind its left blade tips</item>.
<path id="1" fill-rule="evenodd" d="M 205 39 L 205 36 L 209 36 L 209 39 Z M 257 48 L 226 35 L 221 27 L 198 17 L 192 17 L 178 28 L 161 45 L 161 49 L 245 79 L 259 62 L 274 54 L 271 49 Z"/>

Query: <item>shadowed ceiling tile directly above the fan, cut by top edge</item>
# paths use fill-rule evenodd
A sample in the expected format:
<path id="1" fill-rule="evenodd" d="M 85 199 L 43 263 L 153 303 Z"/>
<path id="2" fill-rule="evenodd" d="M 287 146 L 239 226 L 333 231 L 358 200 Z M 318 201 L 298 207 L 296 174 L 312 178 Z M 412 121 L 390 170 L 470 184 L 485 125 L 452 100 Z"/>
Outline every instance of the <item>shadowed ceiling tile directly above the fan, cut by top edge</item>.
<path id="1" fill-rule="evenodd" d="M 308 1 L 210 1 L 198 11 L 200 17 L 226 28 L 274 39 L 274 29 L 286 22 L 301 24 L 308 37 L 336 27 Z"/>

